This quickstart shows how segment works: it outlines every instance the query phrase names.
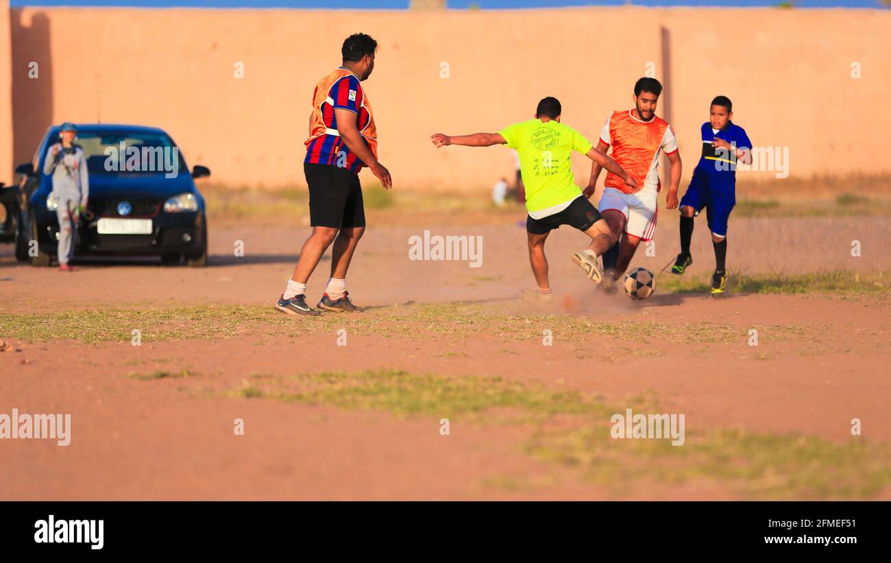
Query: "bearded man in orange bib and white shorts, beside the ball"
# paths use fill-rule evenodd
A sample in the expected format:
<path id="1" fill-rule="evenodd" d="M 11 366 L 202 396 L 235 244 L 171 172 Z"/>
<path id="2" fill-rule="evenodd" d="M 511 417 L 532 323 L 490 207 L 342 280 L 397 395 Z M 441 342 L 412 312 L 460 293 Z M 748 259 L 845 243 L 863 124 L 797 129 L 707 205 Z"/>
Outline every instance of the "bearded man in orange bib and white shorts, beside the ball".
<path id="1" fill-rule="evenodd" d="M 656 78 L 641 78 L 634 85 L 634 109 L 614 111 L 603 125 L 597 150 L 612 147 L 612 158 L 623 167 L 638 187 L 628 187 L 616 175 L 607 174 L 598 210 L 616 237 L 621 239 L 603 255 L 604 275 L 601 287 L 616 290 L 616 280 L 625 272 L 641 241 L 650 241 L 656 233 L 657 193 L 661 190 L 659 154 L 665 152 L 671 168 L 671 184 L 666 194 L 666 208 L 677 208 L 677 190 L 681 183 L 681 155 L 674 130 L 665 119 L 656 117 L 656 105 L 662 85 Z M 586 197 L 591 197 L 601 165 L 593 163 Z"/>

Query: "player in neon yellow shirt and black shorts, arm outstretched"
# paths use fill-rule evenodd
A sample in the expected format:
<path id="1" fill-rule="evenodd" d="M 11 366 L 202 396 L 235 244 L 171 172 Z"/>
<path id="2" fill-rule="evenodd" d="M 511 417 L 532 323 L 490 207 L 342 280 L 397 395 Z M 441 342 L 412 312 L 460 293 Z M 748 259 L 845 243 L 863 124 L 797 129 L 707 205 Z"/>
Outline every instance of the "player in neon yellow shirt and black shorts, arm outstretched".
<path id="1" fill-rule="evenodd" d="M 534 119 L 515 123 L 499 133 L 454 136 L 437 133 L 430 136 L 437 148 L 450 144 L 470 147 L 503 144 L 517 151 L 526 186 L 529 263 L 538 293 L 544 298 L 551 295 L 544 241 L 553 229 L 568 224 L 591 237 L 588 248 L 573 253 L 572 260 L 595 283 L 600 282 L 603 275 L 597 257 L 616 243 L 616 235 L 609 229 L 609 224 L 576 186 L 569 162 L 572 151 L 581 152 L 623 178 L 630 187 L 637 187 L 634 178 L 615 160 L 594 148 L 583 135 L 561 124 L 561 112 L 560 102 L 549 96 L 538 102 Z"/>

